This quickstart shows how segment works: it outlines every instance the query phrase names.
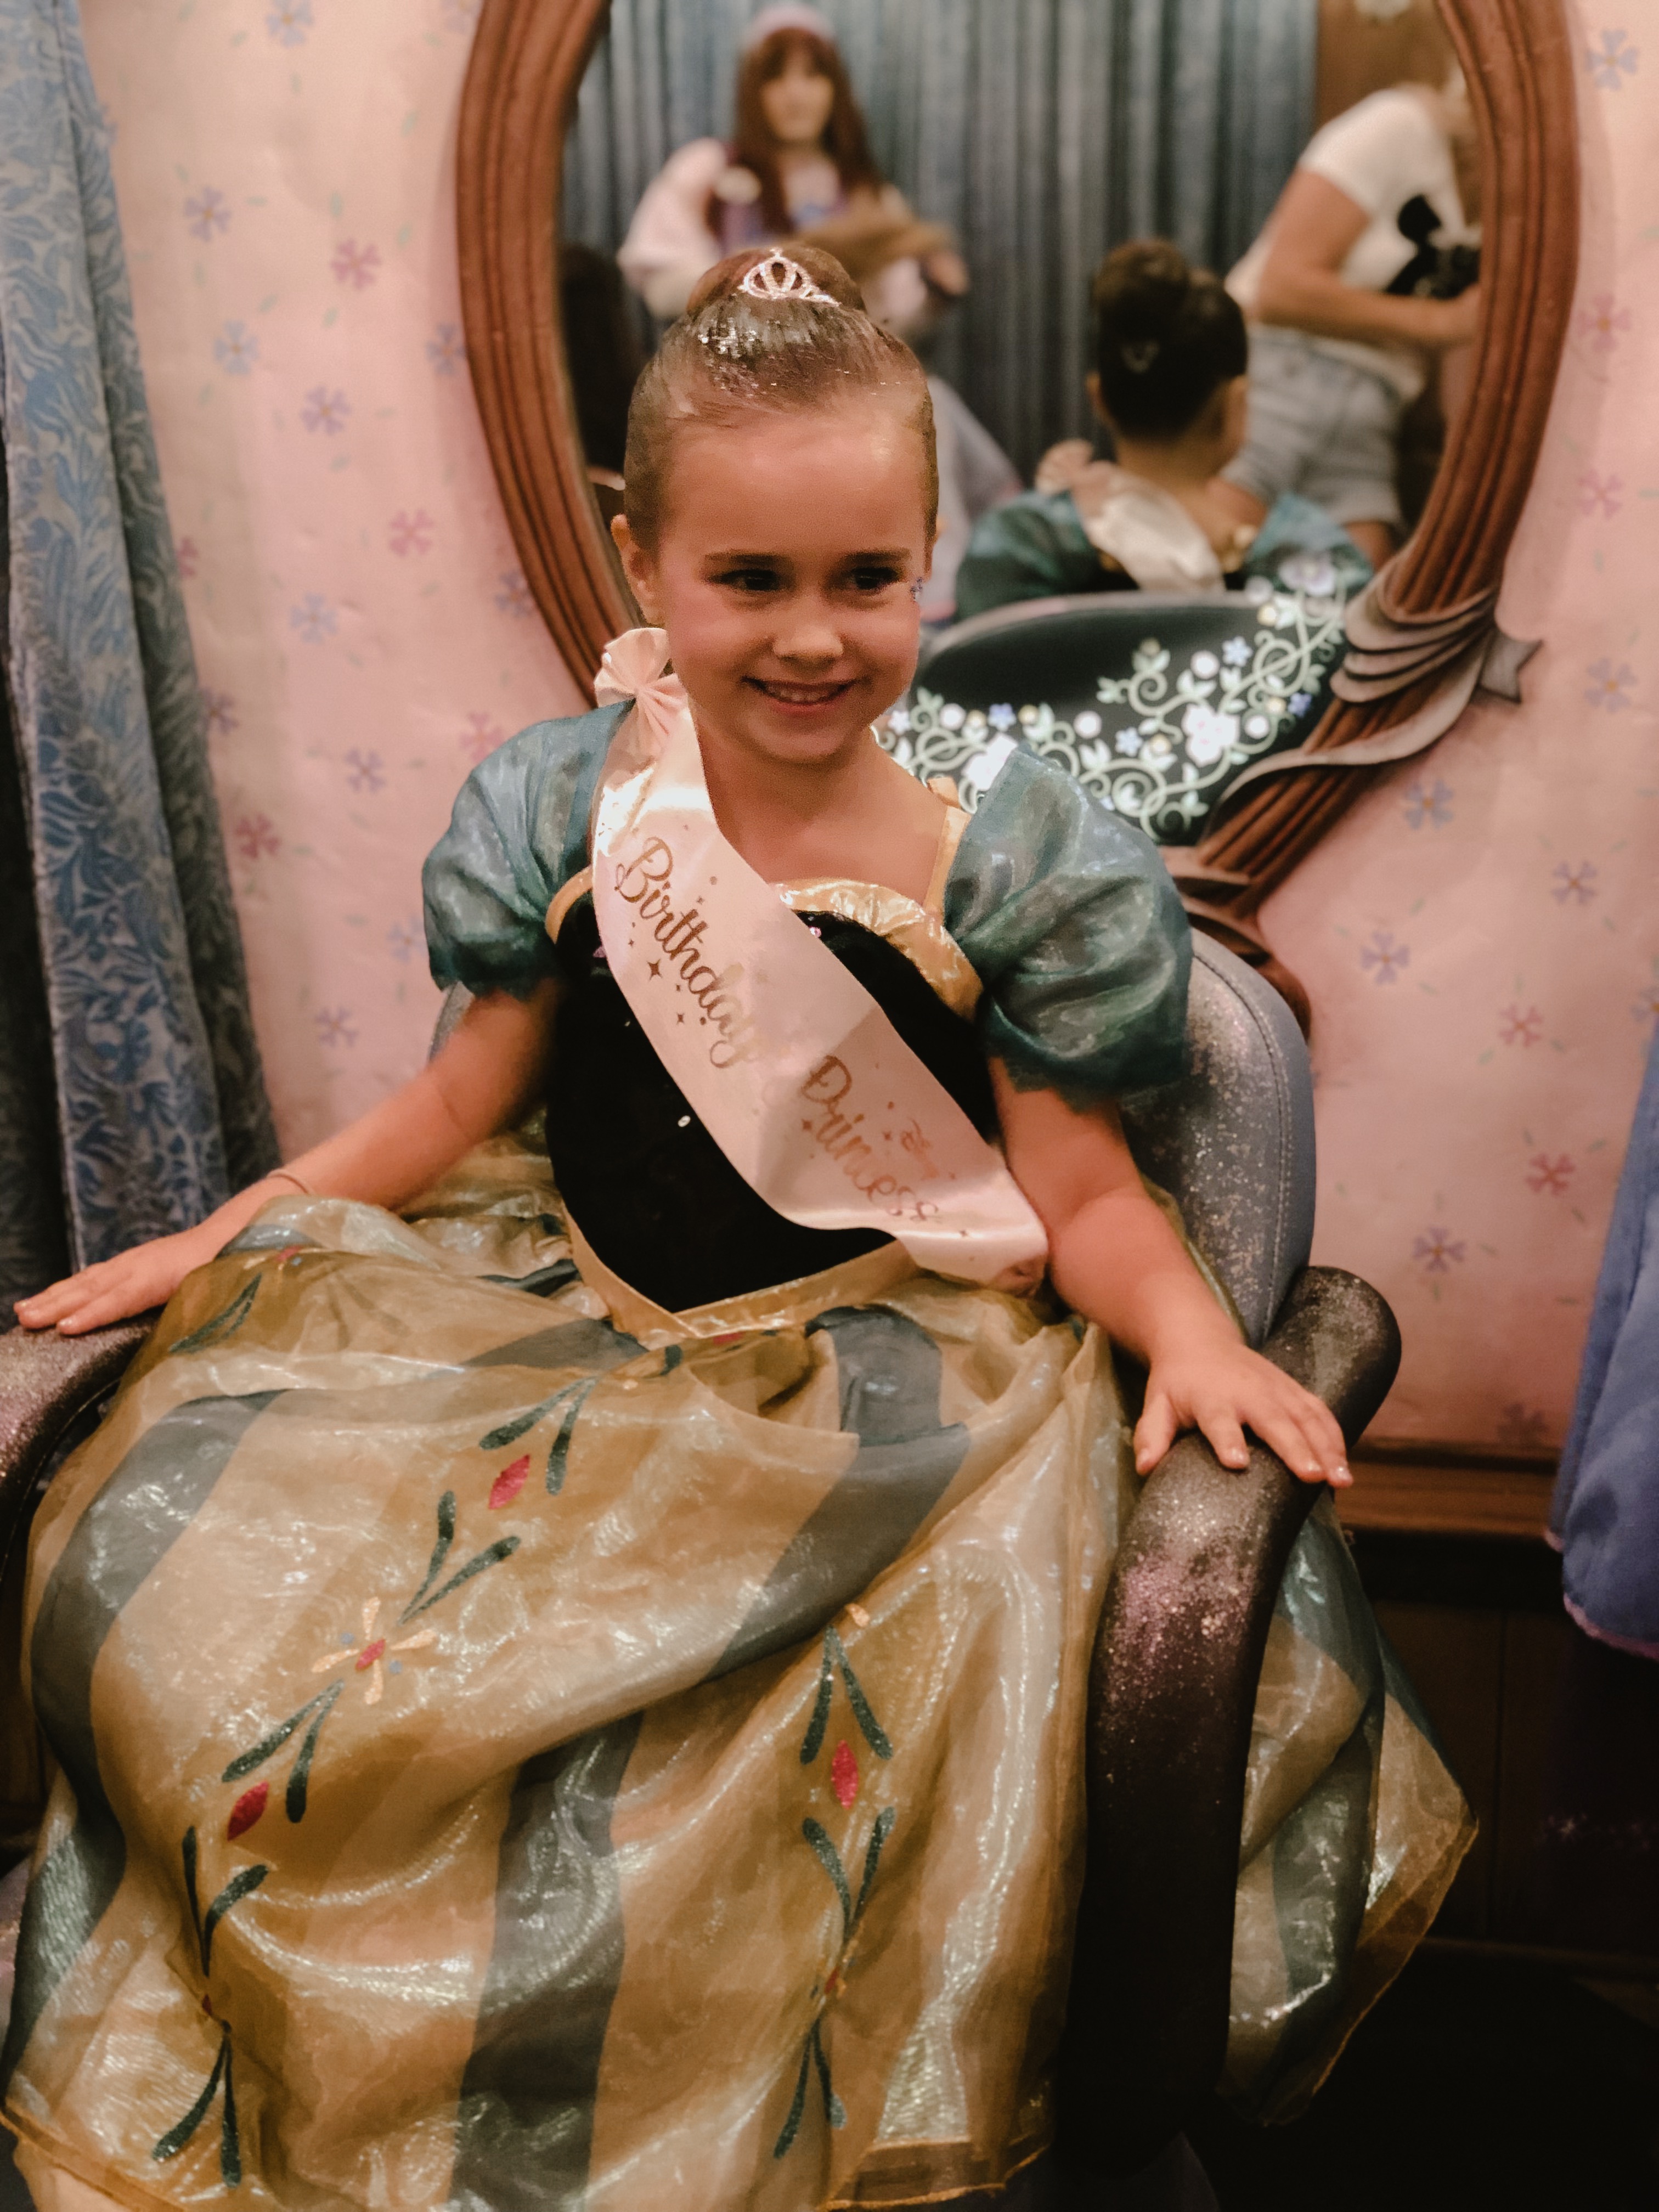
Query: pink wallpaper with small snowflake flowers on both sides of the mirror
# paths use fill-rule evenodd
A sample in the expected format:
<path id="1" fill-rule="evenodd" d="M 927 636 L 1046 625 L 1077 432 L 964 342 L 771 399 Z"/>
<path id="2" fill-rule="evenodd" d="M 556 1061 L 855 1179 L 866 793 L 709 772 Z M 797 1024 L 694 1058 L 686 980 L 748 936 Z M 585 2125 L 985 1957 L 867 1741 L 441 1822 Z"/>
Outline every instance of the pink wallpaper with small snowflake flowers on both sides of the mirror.
<path id="1" fill-rule="evenodd" d="M 1270 905 L 1316 1009 L 1318 1256 L 1394 1301 L 1396 1433 L 1551 1442 L 1659 1011 L 1659 0 L 1575 4 L 1575 336 L 1504 593 L 1542 637 Z M 84 0 L 290 1148 L 418 1062 L 420 856 L 575 688 L 460 361 L 476 0 Z M 1599 55 L 1599 60 L 1593 58 Z"/>

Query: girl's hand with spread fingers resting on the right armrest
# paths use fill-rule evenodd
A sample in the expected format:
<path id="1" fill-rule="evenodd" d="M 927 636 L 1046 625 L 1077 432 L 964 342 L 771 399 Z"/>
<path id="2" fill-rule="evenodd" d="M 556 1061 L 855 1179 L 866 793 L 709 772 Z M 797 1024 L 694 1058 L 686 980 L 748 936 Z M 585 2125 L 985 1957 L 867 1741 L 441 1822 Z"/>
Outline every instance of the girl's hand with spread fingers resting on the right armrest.
<path id="1" fill-rule="evenodd" d="M 1232 1332 L 1155 1358 L 1135 1425 L 1135 1471 L 1150 1475 L 1181 1429 L 1201 1429 L 1223 1467 L 1245 1467 L 1252 1429 L 1303 1482 L 1347 1489 L 1347 1447 L 1336 1416 Z"/>

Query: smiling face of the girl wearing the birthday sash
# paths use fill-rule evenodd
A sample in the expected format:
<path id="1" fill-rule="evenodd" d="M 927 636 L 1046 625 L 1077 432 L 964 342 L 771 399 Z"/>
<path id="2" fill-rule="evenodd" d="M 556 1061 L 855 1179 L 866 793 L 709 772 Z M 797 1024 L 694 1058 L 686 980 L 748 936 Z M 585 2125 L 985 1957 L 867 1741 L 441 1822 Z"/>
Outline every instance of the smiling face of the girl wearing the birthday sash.
<path id="1" fill-rule="evenodd" d="M 613 531 L 703 734 L 803 768 L 858 745 L 916 672 L 931 549 L 909 422 L 867 398 L 688 425 L 655 551 Z"/>

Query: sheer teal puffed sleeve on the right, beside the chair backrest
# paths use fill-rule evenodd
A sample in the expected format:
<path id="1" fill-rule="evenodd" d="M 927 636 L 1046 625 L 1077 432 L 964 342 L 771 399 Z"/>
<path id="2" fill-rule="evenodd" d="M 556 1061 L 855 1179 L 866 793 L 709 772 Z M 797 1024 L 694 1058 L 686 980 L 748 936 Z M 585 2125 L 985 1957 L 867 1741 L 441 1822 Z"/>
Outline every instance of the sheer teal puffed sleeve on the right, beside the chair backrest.
<path id="1" fill-rule="evenodd" d="M 1157 845 L 1064 770 L 1013 752 L 962 832 L 945 927 L 973 962 L 984 1051 L 1086 1106 L 1186 1068 L 1192 931 Z"/>

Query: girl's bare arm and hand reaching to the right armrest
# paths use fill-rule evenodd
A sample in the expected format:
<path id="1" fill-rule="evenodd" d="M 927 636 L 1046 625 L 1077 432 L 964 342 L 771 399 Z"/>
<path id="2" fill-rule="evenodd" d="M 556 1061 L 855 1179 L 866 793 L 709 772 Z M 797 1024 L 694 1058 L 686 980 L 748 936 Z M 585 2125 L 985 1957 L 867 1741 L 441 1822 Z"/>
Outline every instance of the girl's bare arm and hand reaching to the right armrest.
<path id="1" fill-rule="evenodd" d="M 1146 1360 L 1135 1467 L 1150 1473 L 1181 1429 L 1243 1467 L 1252 1429 L 1303 1482 L 1347 1484 L 1336 1418 L 1243 1343 L 1141 1188 L 1117 1110 L 1073 1113 L 1053 1091 L 1015 1088 L 1000 1062 L 991 1079 L 1009 1168 L 1048 1230 L 1048 1279 Z"/>

